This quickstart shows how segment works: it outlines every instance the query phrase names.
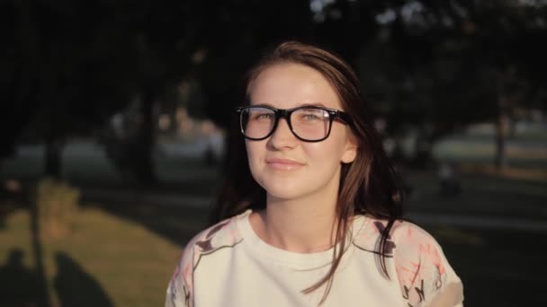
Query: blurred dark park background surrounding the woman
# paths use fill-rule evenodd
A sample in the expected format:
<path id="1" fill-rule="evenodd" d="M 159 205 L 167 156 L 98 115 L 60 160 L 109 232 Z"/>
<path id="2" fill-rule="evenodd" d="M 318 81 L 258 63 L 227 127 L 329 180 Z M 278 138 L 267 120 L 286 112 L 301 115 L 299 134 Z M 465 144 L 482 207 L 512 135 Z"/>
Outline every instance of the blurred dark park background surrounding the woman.
<path id="1" fill-rule="evenodd" d="M 465 305 L 547 305 L 547 1 L 4 0 L 0 21 L 0 305 L 163 305 L 243 74 L 282 39 L 354 66 Z"/>

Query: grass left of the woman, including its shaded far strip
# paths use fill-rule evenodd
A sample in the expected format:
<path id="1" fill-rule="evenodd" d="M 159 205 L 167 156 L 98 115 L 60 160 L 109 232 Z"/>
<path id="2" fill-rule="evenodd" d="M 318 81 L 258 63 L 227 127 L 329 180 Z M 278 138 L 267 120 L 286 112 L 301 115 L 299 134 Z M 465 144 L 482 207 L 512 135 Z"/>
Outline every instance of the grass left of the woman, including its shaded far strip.
<path id="1" fill-rule="evenodd" d="M 100 206 L 85 206 L 75 216 L 72 232 L 58 237 L 41 233 L 39 246 L 45 276 L 36 276 L 31 215 L 26 209 L 17 209 L 4 216 L 0 267 L 6 269 L 8 255 L 21 250 L 19 272 L 31 272 L 34 279 L 43 277 L 47 300 L 54 307 L 67 303 L 103 306 L 109 302 L 112 306 L 163 305 L 167 283 L 183 249 L 181 242 L 203 227 L 205 212 L 187 210 L 177 216 L 166 212 L 161 216 L 157 210 L 144 210 L 141 206 L 126 210 L 130 215 L 121 217 Z M 163 232 L 158 232 L 158 228 Z M 0 276 L 7 281 L 5 277 Z M 16 276 L 10 279 L 13 277 Z M 29 285 L 12 283 L 11 289 L 27 298 L 34 297 L 39 303 L 44 300 Z M 29 293 L 29 289 L 34 293 Z M 3 306 L 22 304 L 21 299 L 13 296 L 10 303 L 4 295 L 0 295 Z"/>

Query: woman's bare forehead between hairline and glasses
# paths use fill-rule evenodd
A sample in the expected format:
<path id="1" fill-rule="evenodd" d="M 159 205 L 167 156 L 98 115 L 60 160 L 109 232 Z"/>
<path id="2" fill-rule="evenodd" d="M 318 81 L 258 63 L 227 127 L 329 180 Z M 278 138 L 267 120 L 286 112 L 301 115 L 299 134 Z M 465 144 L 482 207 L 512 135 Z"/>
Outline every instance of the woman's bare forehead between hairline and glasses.
<path id="1" fill-rule="evenodd" d="M 290 109 L 302 104 L 321 104 L 341 109 L 334 87 L 317 70 L 300 64 L 265 68 L 249 86 L 251 104 Z"/>

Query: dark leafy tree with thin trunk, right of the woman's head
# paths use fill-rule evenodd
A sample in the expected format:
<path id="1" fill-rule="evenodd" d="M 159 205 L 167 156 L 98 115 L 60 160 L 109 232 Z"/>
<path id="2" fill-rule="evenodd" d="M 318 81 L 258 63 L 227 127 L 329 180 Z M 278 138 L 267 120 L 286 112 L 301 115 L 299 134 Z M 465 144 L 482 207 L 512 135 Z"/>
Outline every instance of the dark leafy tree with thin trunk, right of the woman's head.
<path id="1" fill-rule="evenodd" d="M 454 128 L 496 120 L 496 163 L 503 167 L 503 123 L 512 110 L 545 109 L 543 1 L 339 0 L 323 15 L 318 27 L 338 29 L 323 39 L 359 49 L 350 61 L 359 67 L 364 92 L 396 130 L 421 125 L 431 143 Z M 336 36 L 361 30 L 364 35 Z"/>

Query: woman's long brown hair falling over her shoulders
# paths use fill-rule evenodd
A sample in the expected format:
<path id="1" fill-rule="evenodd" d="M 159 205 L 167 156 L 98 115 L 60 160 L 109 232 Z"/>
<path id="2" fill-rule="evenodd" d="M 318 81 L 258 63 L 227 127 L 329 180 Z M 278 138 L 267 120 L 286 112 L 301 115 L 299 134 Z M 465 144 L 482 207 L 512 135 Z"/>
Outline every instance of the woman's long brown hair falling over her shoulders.
<path id="1" fill-rule="evenodd" d="M 350 219 L 354 215 L 372 215 L 386 220 L 381 233 L 376 257 L 380 274 L 389 277 L 385 263 L 388 237 L 394 222 L 402 218 L 403 192 L 398 173 L 383 150 L 381 137 L 372 126 L 371 113 L 359 90 L 359 79 L 351 66 L 334 52 L 298 41 L 286 41 L 265 54 L 247 73 L 246 101 L 249 103 L 249 84 L 268 67 L 280 64 L 309 66 L 323 75 L 336 91 L 342 109 L 353 119 L 351 131 L 358 149 L 354 162 L 341 166 L 340 186 L 336 202 L 336 242 L 332 265 L 325 276 L 314 285 L 302 290 L 309 294 L 326 284 L 320 303 L 324 303 L 332 286 L 336 268 L 345 251 L 346 237 L 350 232 Z M 234 117 L 235 118 L 235 117 Z M 244 137 L 240 135 L 238 121 L 230 129 L 229 167 L 225 181 L 211 215 L 211 222 L 245 212 L 265 208 L 265 189 L 251 175 L 247 161 Z M 339 245 L 339 247 L 338 247 Z M 319 304 L 320 304 L 319 303 Z"/>

